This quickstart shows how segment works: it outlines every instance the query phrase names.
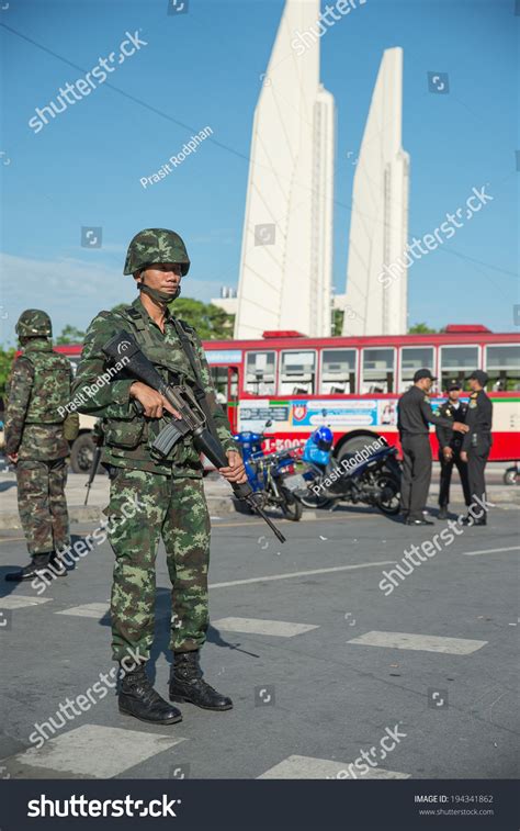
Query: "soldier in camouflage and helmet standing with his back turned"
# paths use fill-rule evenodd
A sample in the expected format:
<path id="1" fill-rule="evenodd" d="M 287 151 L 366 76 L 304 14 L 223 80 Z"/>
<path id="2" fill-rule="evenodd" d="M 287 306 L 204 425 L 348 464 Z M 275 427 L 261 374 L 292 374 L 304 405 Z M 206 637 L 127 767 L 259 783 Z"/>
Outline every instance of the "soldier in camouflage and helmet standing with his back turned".
<path id="1" fill-rule="evenodd" d="M 64 414 L 72 371 L 69 361 L 53 351 L 52 334 L 49 316 L 38 308 L 27 308 L 16 323 L 23 353 L 14 361 L 8 385 L 5 452 L 16 467 L 20 520 L 32 560 L 7 574 L 10 581 L 31 580 L 49 564 L 65 574 L 56 552 L 69 544 Z"/>

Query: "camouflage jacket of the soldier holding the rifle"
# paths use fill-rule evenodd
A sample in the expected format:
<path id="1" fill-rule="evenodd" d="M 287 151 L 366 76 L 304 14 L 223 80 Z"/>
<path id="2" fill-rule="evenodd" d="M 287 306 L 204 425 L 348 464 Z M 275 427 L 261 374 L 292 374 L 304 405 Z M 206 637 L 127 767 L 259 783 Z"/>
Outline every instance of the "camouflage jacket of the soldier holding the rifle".
<path id="1" fill-rule="evenodd" d="M 133 468 L 173 476 L 202 475 L 202 464 L 192 438 L 179 441 L 166 459 L 151 452 L 151 443 L 168 424 L 169 416 L 146 418 L 138 413 L 131 398 L 133 378 L 124 368 L 110 379 L 103 346 L 117 333 L 128 332 L 154 363 L 160 374 L 168 380 L 169 373 L 180 377 L 181 383 L 194 384 L 195 378 L 190 361 L 181 347 L 173 316 L 167 312 L 165 334 L 148 315 L 140 299 L 132 306 L 116 312 L 100 312 L 89 326 L 83 351 L 74 385 L 75 401 L 80 413 L 89 413 L 104 419 L 105 445 L 102 461 L 120 468 Z M 213 414 L 218 437 L 225 450 L 236 449 L 227 416 L 217 404 L 210 367 L 202 344 L 192 327 L 182 324 L 199 361 L 200 381 Z M 105 375 L 106 381 L 101 380 Z"/>

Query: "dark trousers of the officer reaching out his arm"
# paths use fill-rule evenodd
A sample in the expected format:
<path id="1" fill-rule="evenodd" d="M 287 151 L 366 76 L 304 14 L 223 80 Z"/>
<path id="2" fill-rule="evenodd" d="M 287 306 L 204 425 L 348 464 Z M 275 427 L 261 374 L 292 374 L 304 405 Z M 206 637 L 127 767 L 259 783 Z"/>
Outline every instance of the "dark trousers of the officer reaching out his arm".
<path id="1" fill-rule="evenodd" d="M 422 519 L 431 480 L 429 434 L 404 434 L 400 509 L 409 519 Z"/>

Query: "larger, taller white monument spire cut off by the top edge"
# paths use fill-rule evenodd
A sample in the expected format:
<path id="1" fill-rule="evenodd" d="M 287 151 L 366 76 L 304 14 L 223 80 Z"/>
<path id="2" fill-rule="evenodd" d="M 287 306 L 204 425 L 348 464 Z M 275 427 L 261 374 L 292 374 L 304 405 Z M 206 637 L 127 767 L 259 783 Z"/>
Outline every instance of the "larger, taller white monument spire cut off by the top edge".
<path id="1" fill-rule="evenodd" d="M 255 111 L 235 337 L 330 334 L 335 105 L 319 0 L 286 0 Z"/>

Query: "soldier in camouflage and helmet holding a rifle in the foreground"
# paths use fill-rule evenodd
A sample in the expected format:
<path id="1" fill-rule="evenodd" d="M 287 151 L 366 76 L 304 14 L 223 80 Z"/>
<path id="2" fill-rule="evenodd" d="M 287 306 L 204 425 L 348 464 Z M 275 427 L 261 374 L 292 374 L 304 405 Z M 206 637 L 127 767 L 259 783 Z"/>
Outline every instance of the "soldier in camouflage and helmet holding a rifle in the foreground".
<path id="1" fill-rule="evenodd" d="M 181 720 L 179 709 L 159 696 L 145 671 L 154 640 L 155 560 L 161 538 L 172 584 L 170 700 L 212 710 L 233 707 L 229 698 L 206 684 L 199 663 L 208 626 L 210 516 L 202 465 L 190 436 L 166 458 L 151 449 L 158 433 L 176 415 L 158 392 L 134 381 L 124 368 L 108 383 L 100 384 L 99 379 L 110 369 L 102 347 L 115 334 L 131 333 L 166 380 L 192 386 L 199 382 L 203 388 L 229 459 L 229 467 L 221 473 L 230 482 L 246 481 L 227 417 L 216 402 L 201 341 L 195 330 L 168 308 L 189 268 L 184 243 L 174 232 L 149 228 L 134 237 L 124 273 L 134 276 L 139 296 L 131 306 L 101 312 L 92 321 L 75 383 L 75 391 L 87 393 L 88 403 L 80 409 L 104 419 L 102 462 L 111 478 L 105 513 L 115 520 L 121 517 L 109 534 L 115 554 L 112 652 L 123 669 L 120 711 L 161 725 Z M 195 352 L 199 379 L 181 345 L 184 333 Z M 140 508 L 125 520 L 123 507 L 135 503 L 136 496 Z"/>

